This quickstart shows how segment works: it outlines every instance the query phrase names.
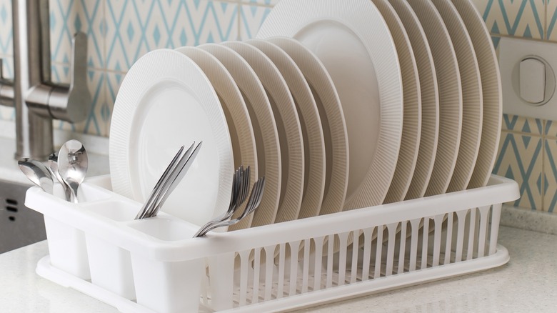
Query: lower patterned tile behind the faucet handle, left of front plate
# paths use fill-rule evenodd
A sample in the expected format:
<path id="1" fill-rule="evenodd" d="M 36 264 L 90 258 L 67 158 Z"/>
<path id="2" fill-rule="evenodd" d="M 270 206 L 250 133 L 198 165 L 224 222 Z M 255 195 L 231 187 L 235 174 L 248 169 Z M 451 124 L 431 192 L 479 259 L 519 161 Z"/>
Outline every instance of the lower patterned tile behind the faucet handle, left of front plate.
<path id="1" fill-rule="evenodd" d="M 67 121 L 54 121 L 55 128 L 96 136 L 106 136 L 106 122 L 99 118 L 101 116 L 101 108 L 106 102 L 105 76 L 104 71 L 94 69 L 87 71 L 87 87 L 91 93 L 91 109 L 89 109 L 86 119 L 75 124 Z M 52 66 L 52 79 L 54 82 L 68 83 L 69 66 L 54 64 Z"/>

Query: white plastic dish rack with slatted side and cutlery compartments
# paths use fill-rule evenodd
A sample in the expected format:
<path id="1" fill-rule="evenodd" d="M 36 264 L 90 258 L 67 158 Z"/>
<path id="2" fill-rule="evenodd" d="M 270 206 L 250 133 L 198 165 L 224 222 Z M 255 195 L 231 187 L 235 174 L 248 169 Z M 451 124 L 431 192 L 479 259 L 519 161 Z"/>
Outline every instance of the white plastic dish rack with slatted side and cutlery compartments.
<path id="1" fill-rule="evenodd" d="M 134 220 L 141 204 L 111 192 L 109 177 L 82 184 L 79 204 L 57 188 L 26 194 L 49 244 L 37 273 L 121 312 L 276 312 L 497 267 L 509 259 L 497 245 L 501 204 L 519 197 L 516 182 L 493 176 L 478 189 L 191 238 L 197 227 L 168 214 Z"/>

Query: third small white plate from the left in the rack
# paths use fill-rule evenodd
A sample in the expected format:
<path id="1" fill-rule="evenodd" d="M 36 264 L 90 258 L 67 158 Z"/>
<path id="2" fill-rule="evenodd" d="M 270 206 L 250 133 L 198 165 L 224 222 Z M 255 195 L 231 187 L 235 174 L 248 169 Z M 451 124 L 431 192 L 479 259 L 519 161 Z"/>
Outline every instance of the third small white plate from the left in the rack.
<path id="1" fill-rule="evenodd" d="M 249 224 L 242 221 L 246 224 L 240 222 L 238 227 L 273 224 L 281 196 L 281 147 L 269 98 L 254 70 L 236 51 L 221 44 L 202 44 L 199 49 L 208 51 L 221 61 L 244 96 L 256 138 L 258 177 L 266 177 L 259 208 L 251 214 L 253 217 Z"/>

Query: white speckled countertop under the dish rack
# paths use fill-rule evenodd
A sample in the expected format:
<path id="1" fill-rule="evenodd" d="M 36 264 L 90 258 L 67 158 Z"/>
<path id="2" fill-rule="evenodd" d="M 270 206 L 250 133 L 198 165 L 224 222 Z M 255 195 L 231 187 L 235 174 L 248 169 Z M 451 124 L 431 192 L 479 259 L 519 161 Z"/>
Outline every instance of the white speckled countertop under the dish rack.
<path id="1" fill-rule="evenodd" d="M 556 312 L 557 236 L 501 227 L 508 264 L 302 312 Z M 1 312 L 118 312 L 35 273 L 46 242 L 0 254 Z"/>

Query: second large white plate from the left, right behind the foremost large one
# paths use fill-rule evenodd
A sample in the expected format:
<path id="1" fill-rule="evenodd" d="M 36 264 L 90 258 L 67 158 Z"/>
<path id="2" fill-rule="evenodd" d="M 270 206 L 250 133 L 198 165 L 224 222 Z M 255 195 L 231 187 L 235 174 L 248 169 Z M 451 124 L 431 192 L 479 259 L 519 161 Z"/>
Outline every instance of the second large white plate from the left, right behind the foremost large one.
<path id="1" fill-rule="evenodd" d="M 381 12 L 389 31 L 393 36 L 401 63 L 403 84 L 403 126 L 401 151 L 398 153 L 396 170 L 388 189 L 385 203 L 403 201 L 410 187 L 416 162 L 421 136 L 421 91 L 418 77 L 418 65 L 414 57 L 410 39 L 401 19 L 387 0 L 373 0 L 373 4 Z"/>

